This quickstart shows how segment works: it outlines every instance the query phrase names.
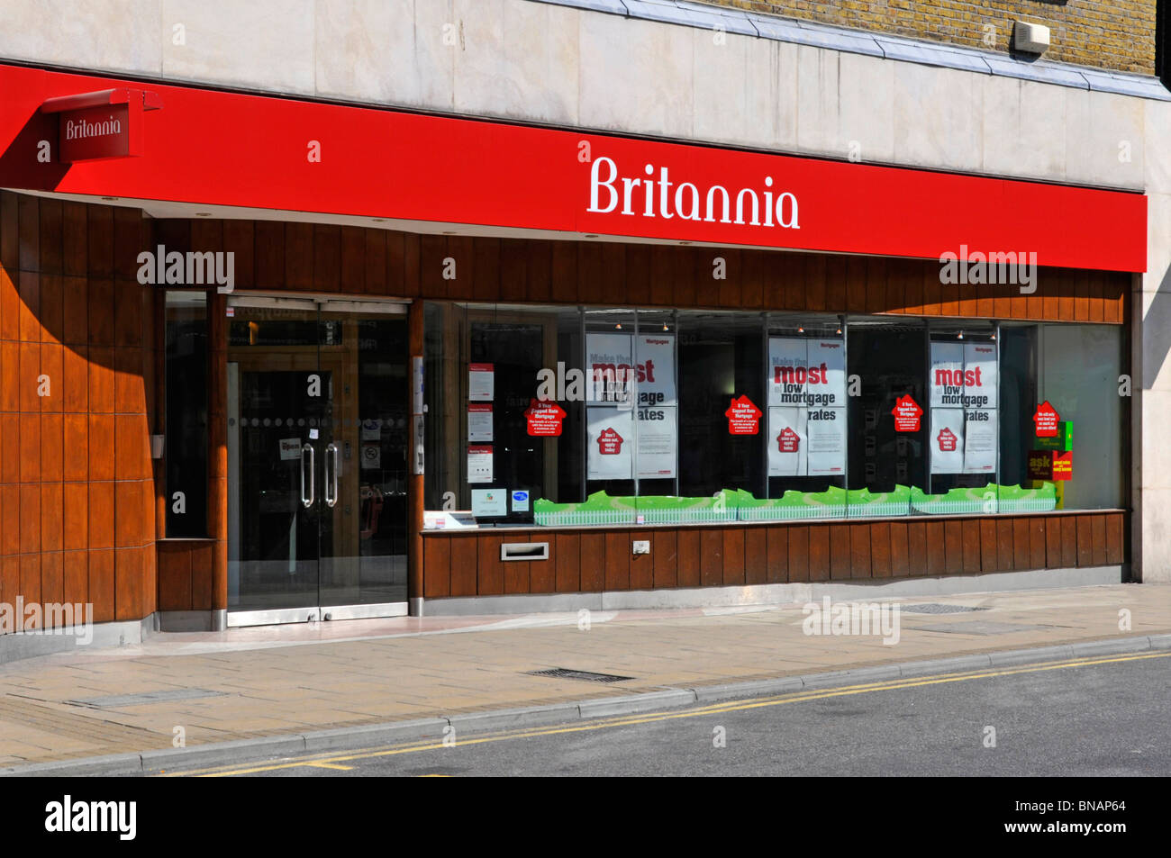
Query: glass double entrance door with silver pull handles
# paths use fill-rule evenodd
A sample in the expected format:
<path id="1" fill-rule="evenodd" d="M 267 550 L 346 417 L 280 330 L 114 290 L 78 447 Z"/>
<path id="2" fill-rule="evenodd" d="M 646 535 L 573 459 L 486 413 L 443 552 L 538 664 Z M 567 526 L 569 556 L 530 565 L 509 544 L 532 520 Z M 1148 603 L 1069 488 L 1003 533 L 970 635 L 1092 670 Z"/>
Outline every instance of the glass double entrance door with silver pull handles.
<path id="1" fill-rule="evenodd" d="M 405 317 L 237 301 L 228 625 L 405 613 Z"/>

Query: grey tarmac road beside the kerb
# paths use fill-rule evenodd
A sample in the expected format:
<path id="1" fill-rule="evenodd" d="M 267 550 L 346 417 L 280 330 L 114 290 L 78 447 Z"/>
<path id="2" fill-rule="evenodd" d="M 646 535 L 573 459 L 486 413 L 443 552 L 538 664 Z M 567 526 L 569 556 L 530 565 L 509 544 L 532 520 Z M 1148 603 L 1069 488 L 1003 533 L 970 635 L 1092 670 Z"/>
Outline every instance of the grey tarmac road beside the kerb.
<path id="1" fill-rule="evenodd" d="M 1171 653 L 1143 653 L 458 735 L 450 746 L 416 742 L 215 774 L 1166 776 L 1169 711 Z"/>

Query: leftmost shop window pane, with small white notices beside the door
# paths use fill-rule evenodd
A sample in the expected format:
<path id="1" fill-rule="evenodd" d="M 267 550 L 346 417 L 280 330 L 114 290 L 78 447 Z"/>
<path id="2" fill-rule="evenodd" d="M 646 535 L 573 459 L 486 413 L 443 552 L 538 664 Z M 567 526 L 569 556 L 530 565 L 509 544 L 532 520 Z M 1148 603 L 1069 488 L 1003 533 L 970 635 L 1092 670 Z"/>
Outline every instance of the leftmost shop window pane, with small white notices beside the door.
<path id="1" fill-rule="evenodd" d="M 580 497 L 581 338 L 576 309 L 427 306 L 427 509 L 530 524 L 536 501 Z M 534 411 L 542 382 L 553 414 Z"/>

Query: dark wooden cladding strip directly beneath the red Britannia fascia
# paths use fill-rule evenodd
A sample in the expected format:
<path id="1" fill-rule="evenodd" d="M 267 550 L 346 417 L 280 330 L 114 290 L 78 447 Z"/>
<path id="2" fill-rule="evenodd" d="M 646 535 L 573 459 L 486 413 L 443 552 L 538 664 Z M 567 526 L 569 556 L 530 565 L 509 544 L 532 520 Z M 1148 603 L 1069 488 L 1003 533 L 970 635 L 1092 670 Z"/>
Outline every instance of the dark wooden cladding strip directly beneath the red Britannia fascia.
<path id="1" fill-rule="evenodd" d="M 1131 275 L 1041 268 L 1036 290 L 945 286 L 932 260 L 157 221 L 167 249 L 235 252 L 235 288 L 459 301 L 801 310 L 1123 324 Z M 726 277 L 717 280 L 717 259 Z M 454 279 L 445 279 L 446 260 Z M 447 267 L 450 273 L 450 267 Z"/>

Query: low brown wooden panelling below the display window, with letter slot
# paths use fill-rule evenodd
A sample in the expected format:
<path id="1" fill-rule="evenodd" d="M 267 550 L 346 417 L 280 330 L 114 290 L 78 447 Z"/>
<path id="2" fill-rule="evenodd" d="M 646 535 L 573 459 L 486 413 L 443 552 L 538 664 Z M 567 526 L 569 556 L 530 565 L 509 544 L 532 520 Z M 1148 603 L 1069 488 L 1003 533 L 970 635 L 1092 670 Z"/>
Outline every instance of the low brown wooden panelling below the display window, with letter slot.
<path id="1" fill-rule="evenodd" d="M 658 590 L 1117 565 L 1128 514 L 892 519 L 638 529 L 425 531 L 423 596 Z M 650 540 L 635 556 L 630 543 Z M 500 562 L 501 542 L 548 542 Z"/>

